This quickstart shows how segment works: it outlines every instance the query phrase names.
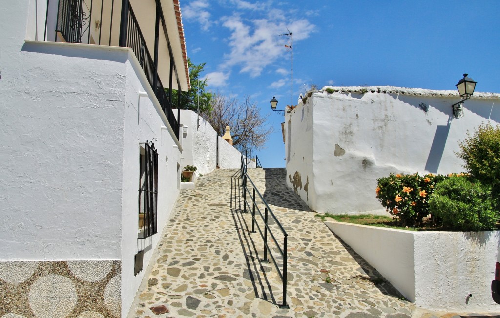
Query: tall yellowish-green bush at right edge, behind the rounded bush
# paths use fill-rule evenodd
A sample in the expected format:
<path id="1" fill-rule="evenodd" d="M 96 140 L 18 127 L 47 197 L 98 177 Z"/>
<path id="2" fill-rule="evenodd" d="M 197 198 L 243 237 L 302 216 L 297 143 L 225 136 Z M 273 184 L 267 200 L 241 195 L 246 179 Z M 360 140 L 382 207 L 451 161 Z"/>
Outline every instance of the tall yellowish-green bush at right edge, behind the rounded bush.
<path id="1" fill-rule="evenodd" d="M 465 164 L 463 167 L 482 184 L 491 185 L 493 198 L 500 197 L 500 125 L 496 127 L 483 123 L 471 136 L 459 142 L 460 151 L 456 155 Z M 500 200 L 495 200 L 500 209 Z"/>

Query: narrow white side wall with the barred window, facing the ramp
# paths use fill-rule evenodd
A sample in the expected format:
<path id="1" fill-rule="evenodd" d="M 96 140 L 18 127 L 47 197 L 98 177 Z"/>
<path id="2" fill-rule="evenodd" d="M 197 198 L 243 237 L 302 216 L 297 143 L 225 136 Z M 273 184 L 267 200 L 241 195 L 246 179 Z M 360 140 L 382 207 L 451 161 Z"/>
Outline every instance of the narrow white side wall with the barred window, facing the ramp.
<path id="1" fill-rule="evenodd" d="M 123 123 L 123 177 L 121 210 L 121 299 L 122 316 L 128 312 L 145 269 L 170 219 L 179 193 L 180 148 L 154 93 L 133 55 L 125 63 L 126 89 Z M 146 94 L 144 94 L 146 93 Z M 155 138 L 155 139 L 154 139 Z M 153 140 L 158 152 L 157 231 L 137 239 L 139 185 L 139 144 Z M 179 167 L 179 169 L 177 169 Z M 134 276 L 134 255 L 144 250 L 143 271 Z"/>

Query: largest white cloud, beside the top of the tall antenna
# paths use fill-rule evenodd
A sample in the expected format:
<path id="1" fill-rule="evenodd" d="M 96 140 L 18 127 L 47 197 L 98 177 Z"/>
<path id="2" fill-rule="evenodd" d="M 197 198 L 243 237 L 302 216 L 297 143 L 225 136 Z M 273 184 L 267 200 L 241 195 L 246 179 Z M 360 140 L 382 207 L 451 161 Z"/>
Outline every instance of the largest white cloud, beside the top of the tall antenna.
<path id="1" fill-rule="evenodd" d="M 299 41 L 309 37 L 315 29 L 306 19 L 295 19 L 288 24 L 283 15 L 280 10 L 273 9 L 268 11 L 267 18 L 244 20 L 237 14 L 223 17 L 222 26 L 231 32 L 228 38 L 230 52 L 224 55 L 223 67 L 239 66 L 240 72 L 256 77 L 285 53 L 286 38 L 278 34 L 288 27 L 293 32 L 293 40 Z"/>

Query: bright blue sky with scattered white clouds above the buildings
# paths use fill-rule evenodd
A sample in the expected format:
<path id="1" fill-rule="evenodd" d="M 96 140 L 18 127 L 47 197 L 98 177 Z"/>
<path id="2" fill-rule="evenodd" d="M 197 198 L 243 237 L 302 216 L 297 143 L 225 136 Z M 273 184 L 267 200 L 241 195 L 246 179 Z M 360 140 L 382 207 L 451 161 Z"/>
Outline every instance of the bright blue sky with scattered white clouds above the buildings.
<path id="1" fill-rule="evenodd" d="M 263 167 L 284 167 L 278 109 L 311 84 L 455 89 L 468 73 L 476 91 L 500 92 L 499 0 L 180 2 L 187 54 L 206 63 L 209 89 L 249 95 L 274 133 L 256 151 Z M 255 151 L 252 152 L 252 155 Z"/>

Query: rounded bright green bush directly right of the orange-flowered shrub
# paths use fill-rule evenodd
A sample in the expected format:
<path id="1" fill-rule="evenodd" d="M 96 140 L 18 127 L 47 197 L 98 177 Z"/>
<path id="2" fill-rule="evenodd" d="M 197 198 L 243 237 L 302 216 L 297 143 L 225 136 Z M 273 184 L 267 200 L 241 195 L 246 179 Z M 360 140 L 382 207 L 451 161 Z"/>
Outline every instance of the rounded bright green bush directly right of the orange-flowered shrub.
<path id="1" fill-rule="evenodd" d="M 493 230 L 499 216 L 492 208 L 491 187 L 467 176 L 439 182 L 430 195 L 429 208 L 443 226 L 457 231 Z"/>

